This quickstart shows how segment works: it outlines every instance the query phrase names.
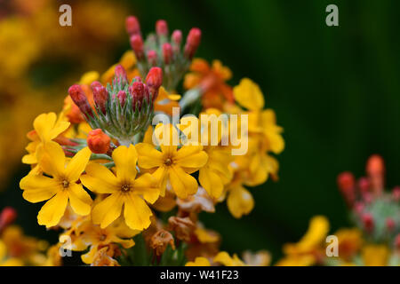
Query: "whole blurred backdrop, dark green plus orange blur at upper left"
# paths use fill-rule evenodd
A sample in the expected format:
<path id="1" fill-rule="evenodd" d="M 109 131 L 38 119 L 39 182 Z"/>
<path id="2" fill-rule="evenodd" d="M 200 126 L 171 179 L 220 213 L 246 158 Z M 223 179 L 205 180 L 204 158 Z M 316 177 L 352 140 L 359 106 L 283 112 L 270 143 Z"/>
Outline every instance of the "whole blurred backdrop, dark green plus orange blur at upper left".
<path id="1" fill-rule="evenodd" d="M 72 6 L 72 27 L 59 25 L 61 4 Z M 339 27 L 325 24 L 328 4 L 339 7 Z M 196 57 L 220 59 L 232 85 L 244 76 L 259 83 L 284 127 L 279 181 L 252 189 L 252 213 L 237 220 L 225 203 L 203 213 L 222 249 L 264 248 L 276 260 L 312 216 L 328 217 L 332 231 L 350 225 L 341 171 L 359 177 L 368 156 L 381 154 L 388 187 L 400 183 L 398 11 L 396 0 L 0 0 L 0 209 L 15 207 L 27 234 L 55 242 L 36 223 L 42 204 L 21 197 L 25 135 L 37 114 L 60 109 L 84 72 L 106 71 L 130 48 L 124 18 L 134 14 L 144 34 L 159 19 L 184 35 L 201 28 Z"/>

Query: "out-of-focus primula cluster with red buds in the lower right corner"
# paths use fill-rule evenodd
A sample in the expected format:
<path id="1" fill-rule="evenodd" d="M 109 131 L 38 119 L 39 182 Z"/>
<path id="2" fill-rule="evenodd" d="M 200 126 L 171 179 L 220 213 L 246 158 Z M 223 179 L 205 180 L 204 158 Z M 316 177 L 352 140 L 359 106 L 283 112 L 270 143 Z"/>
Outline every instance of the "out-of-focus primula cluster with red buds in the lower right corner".
<path id="1" fill-rule="evenodd" d="M 327 256 L 329 222 L 313 217 L 308 232 L 294 244 L 284 246 L 278 265 L 400 265 L 400 189 L 385 191 L 385 165 L 380 155 L 366 164 L 366 176 L 357 181 L 351 172 L 338 176 L 340 193 L 350 210 L 353 228 L 341 228 L 337 256 Z"/>

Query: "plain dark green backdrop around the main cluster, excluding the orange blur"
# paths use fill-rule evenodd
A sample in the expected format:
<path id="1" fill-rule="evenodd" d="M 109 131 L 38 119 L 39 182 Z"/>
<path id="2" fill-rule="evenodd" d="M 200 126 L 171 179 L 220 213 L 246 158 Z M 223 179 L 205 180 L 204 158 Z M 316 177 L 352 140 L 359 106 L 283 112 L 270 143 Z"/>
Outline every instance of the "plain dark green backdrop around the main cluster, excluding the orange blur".
<path id="1" fill-rule="evenodd" d="M 339 27 L 325 25 L 327 4 L 339 6 Z M 398 182 L 400 2 L 147 0 L 129 6 L 144 33 L 158 19 L 184 35 L 201 28 L 196 56 L 220 59 L 231 68 L 233 85 L 244 76 L 259 83 L 284 127 L 280 180 L 252 189 L 250 216 L 236 220 L 225 203 L 202 216 L 222 234 L 223 249 L 266 248 L 276 260 L 284 242 L 297 241 L 316 214 L 329 217 L 332 230 L 350 225 L 336 176 L 343 170 L 363 175 L 370 154 L 385 158 L 388 186 Z M 127 48 L 126 37 L 112 59 Z M 28 233 L 47 235 L 36 225 L 39 207 L 15 188 L 23 170 L 0 207 L 16 206 Z"/>

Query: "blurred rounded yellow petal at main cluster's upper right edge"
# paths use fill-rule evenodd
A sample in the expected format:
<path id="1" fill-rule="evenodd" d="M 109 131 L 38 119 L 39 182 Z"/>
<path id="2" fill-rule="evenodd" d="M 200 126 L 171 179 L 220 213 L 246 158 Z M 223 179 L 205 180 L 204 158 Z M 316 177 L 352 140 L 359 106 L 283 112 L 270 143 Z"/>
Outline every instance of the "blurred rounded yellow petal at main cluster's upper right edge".
<path id="1" fill-rule="evenodd" d="M 250 110 L 260 110 L 264 107 L 264 95 L 258 84 L 248 78 L 243 78 L 233 89 L 234 97 L 239 105 Z"/>

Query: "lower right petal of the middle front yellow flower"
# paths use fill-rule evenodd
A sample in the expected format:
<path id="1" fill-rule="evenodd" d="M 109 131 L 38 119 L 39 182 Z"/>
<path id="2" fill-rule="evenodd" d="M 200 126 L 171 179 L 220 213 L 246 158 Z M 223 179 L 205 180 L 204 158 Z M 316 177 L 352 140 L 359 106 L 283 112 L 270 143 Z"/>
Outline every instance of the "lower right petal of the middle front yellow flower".
<path id="1" fill-rule="evenodd" d="M 125 223 L 132 230 L 144 230 L 151 224 L 150 217 L 153 215 L 148 204 L 139 196 L 129 194 L 124 201 Z"/>

